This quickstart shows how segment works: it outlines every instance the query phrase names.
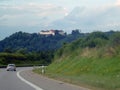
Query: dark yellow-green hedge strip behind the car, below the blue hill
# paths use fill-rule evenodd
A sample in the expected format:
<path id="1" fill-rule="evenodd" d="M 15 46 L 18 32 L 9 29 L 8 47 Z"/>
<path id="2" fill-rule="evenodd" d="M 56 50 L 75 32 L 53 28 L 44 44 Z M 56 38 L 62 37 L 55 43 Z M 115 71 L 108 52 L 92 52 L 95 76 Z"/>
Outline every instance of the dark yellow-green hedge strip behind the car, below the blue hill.
<path id="1" fill-rule="evenodd" d="M 17 66 L 48 65 L 53 59 L 53 52 L 27 52 L 25 49 L 11 52 L 6 50 L 0 53 L 0 66 L 14 63 Z"/>

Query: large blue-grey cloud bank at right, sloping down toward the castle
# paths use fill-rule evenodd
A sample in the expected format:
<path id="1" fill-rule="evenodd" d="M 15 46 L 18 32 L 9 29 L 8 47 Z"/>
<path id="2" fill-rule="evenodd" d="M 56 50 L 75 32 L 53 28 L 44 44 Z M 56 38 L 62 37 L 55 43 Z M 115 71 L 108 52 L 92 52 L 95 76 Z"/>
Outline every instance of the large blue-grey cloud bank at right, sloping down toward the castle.
<path id="1" fill-rule="evenodd" d="M 69 15 L 51 24 L 57 29 L 81 29 L 83 31 L 93 30 L 116 30 L 120 28 L 120 7 L 111 6 L 94 10 L 76 7 Z"/>

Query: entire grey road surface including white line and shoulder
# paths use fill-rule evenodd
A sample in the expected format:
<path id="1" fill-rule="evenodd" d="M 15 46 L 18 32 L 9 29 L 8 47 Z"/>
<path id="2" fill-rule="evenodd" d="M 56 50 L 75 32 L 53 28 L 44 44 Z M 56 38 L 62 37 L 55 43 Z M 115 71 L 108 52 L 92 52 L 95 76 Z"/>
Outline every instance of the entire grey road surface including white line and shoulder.
<path id="1" fill-rule="evenodd" d="M 17 68 L 17 71 L 0 69 L 0 90 L 89 90 L 40 76 L 31 68 Z"/>

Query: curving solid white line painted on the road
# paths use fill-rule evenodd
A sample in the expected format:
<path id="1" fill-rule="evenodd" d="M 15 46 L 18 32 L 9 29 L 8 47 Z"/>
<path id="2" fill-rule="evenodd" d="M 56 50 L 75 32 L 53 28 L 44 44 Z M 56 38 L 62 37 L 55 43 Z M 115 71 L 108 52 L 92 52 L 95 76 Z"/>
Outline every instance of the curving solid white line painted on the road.
<path id="1" fill-rule="evenodd" d="M 27 83 L 27 84 L 30 85 L 31 87 L 33 87 L 35 90 L 43 90 L 42 88 L 36 86 L 35 84 L 33 84 L 33 83 L 25 80 L 23 77 L 21 77 L 21 76 L 20 76 L 20 72 L 22 72 L 22 70 L 17 72 L 17 77 L 18 77 L 20 80 L 22 80 L 23 82 Z"/>

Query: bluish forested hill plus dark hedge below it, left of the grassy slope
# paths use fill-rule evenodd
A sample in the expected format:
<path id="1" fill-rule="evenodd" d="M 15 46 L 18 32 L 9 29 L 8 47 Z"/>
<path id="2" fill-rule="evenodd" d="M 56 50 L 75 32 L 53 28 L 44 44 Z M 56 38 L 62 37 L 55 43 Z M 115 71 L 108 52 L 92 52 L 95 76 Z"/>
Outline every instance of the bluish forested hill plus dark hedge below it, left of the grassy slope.
<path id="1" fill-rule="evenodd" d="M 69 35 L 44 36 L 37 33 L 16 32 L 0 41 L 0 65 L 47 65 L 54 57 L 54 51 L 64 43 L 70 43 L 84 34 L 73 31 Z"/>

